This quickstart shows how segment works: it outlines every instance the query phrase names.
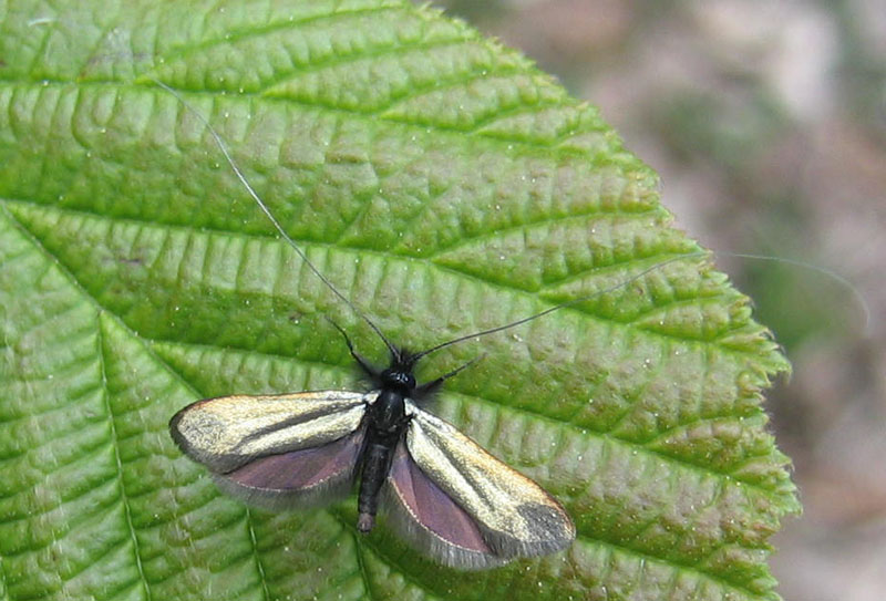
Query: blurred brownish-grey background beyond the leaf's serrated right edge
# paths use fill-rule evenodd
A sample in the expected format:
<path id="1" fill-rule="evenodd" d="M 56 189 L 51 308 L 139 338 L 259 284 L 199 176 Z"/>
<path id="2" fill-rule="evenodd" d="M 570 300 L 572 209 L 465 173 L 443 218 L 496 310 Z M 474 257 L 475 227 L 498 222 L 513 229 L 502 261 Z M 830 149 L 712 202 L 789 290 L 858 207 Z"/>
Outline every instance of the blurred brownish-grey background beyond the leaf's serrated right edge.
<path id="1" fill-rule="evenodd" d="M 794 364 L 767 408 L 805 512 L 789 601 L 886 599 L 886 1 L 436 0 L 598 105 Z"/>

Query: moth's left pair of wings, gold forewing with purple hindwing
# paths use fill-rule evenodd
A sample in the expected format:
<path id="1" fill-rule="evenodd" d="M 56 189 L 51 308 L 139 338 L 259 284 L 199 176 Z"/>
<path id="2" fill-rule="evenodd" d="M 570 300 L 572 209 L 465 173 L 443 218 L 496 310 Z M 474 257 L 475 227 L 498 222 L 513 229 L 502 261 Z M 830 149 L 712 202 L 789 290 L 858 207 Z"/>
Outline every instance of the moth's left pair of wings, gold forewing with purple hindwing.
<path id="1" fill-rule="evenodd" d="M 251 505 L 316 505 L 351 488 L 367 405 L 377 392 L 305 392 L 197 401 L 169 421 L 173 439 L 219 488 Z"/>

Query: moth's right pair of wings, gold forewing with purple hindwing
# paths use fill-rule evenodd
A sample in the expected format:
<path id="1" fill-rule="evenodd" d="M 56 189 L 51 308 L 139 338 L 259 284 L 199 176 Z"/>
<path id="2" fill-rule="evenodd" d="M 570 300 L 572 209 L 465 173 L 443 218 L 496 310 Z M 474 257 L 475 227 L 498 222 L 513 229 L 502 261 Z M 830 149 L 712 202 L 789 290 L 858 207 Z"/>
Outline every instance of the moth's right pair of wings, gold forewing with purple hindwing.
<path id="1" fill-rule="evenodd" d="M 392 465 L 390 484 L 396 501 L 392 505 L 406 514 L 394 522 L 429 555 L 450 566 L 483 568 L 516 557 L 556 552 L 575 540 L 573 520 L 540 486 L 447 422 L 412 404 L 409 411 L 412 419 L 405 445 L 414 467 L 406 465 L 395 472 Z M 394 462 L 398 458 L 403 462 L 400 455 Z M 422 487 L 426 491 L 419 494 Z M 427 517 L 439 510 L 435 507 L 443 507 L 443 514 L 450 516 L 446 520 L 456 524 L 452 516 L 459 511 L 451 505 L 470 517 L 475 530 L 462 526 L 461 518 L 453 528 Z M 483 546 L 473 538 L 474 532 L 480 533 Z"/>

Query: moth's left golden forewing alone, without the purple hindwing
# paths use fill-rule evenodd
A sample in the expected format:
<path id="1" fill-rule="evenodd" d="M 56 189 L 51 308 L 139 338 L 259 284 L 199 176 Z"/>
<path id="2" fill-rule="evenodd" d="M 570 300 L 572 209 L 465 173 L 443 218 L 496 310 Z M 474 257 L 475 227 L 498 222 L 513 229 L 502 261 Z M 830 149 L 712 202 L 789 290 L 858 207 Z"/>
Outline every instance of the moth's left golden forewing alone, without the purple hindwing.
<path id="1" fill-rule="evenodd" d="M 216 474 L 258 457 L 320 447 L 357 431 L 378 392 L 303 392 L 197 401 L 169 421 L 176 444 Z"/>

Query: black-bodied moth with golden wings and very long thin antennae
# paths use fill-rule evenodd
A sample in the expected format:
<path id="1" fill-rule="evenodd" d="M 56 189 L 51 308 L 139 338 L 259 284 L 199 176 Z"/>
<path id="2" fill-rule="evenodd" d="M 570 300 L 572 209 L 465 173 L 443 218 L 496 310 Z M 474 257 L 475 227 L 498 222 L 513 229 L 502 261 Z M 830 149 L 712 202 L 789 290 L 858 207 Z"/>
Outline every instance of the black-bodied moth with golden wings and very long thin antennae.
<path id="1" fill-rule="evenodd" d="M 591 297 L 422 352 L 399 348 L 288 236 L 208 121 L 175 90 L 152 81 L 197 115 L 280 237 L 333 294 L 370 325 L 390 353 L 389 365 L 375 367 L 333 323 L 344 336 L 351 356 L 372 382 L 369 392 L 298 392 L 197 401 L 169 422 L 172 437 L 181 449 L 205 465 L 219 488 L 260 507 L 328 504 L 347 497 L 357 487 L 359 531 L 372 530 L 381 508 L 389 516 L 388 524 L 409 543 L 453 568 L 493 568 L 515 558 L 569 547 L 575 539 L 575 525 L 556 499 L 422 407 L 446 380 L 473 361 L 423 384 L 415 381 L 414 369 L 422 358 L 444 346 L 517 327 Z M 691 253 L 662 261 L 594 296 L 687 256 Z"/>

